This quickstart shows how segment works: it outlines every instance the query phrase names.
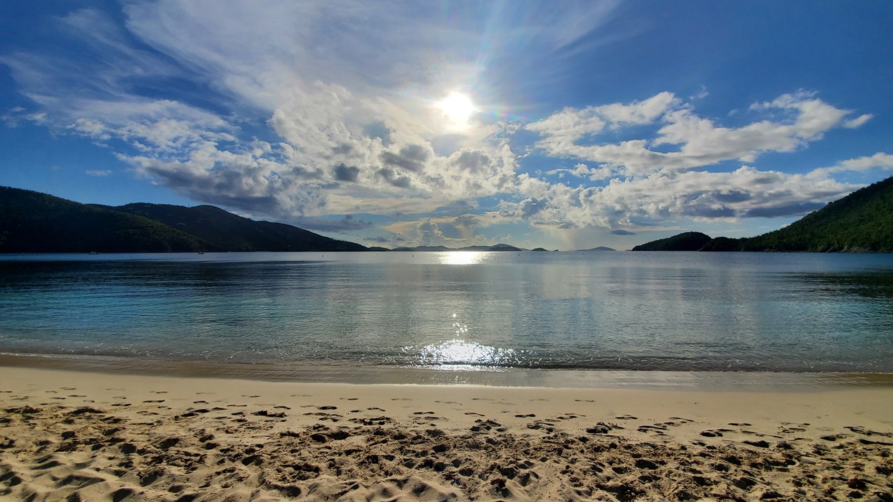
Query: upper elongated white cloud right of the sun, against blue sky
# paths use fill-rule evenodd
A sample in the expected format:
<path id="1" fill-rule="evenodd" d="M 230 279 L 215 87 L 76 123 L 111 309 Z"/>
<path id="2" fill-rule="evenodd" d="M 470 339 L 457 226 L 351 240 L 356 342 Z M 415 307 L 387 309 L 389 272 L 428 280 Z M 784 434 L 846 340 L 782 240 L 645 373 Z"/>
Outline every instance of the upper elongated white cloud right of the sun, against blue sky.
<path id="1" fill-rule="evenodd" d="M 662 169 L 685 170 L 730 160 L 754 162 L 765 152 L 793 152 L 822 138 L 836 127 L 858 127 L 870 115 L 844 119 L 851 112 L 824 103 L 814 93 L 785 94 L 766 103 L 750 106 L 755 113 L 780 113 L 780 117 L 755 121 L 738 128 L 722 127 L 698 116 L 670 93 L 660 93 L 642 102 L 613 104 L 582 110 L 565 109 L 528 124 L 527 129 L 543 138 L 537 146 L 549 155 L 577 157 L 612 167 L 624 174 L 647 174 Z M 659 122 L 653 139 L 630 139 L 617 143 L 584 141 L 608 125 Z M 658 148 L 676 146 L 671 151 Z"/>

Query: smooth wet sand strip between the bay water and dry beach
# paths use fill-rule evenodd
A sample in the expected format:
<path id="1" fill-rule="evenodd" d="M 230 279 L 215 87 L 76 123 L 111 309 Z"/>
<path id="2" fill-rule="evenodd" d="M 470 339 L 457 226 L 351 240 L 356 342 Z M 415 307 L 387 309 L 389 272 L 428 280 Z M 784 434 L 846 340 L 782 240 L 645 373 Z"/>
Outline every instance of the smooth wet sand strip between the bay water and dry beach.
<path id="1" fill-rule="evenodd" d="M 243 364 L 117 356 L 0 353 L 0 367 L 222 380 L 381 385 L 471 385 L 549 389 L 808 391 L 893 388 L 887 372 L 716 372 L 589 369 L 474 369 L 463 366 Z"/>

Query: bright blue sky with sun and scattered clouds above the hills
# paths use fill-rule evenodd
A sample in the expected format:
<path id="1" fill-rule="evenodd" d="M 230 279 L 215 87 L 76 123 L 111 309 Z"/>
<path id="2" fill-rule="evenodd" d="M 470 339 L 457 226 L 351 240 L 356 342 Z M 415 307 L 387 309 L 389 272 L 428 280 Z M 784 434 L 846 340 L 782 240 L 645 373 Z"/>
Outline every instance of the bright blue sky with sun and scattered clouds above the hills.
<path id="1" fill-rule="evenodd" d="M 366 246 L 779 229 L 893 175 L 893 2 L 7 0 L 0 185 Z"/>

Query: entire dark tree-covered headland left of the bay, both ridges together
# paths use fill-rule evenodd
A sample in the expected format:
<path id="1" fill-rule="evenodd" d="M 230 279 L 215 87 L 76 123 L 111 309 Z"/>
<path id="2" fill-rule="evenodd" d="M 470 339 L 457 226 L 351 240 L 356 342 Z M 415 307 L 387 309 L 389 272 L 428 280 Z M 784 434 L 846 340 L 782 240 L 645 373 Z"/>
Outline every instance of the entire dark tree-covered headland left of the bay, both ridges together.
<path id="1" fill-rule="evenodd" d="M 85 205 L 0 187 L 0 253 L 364 251 L 291 225 L 200 205 Z"/>

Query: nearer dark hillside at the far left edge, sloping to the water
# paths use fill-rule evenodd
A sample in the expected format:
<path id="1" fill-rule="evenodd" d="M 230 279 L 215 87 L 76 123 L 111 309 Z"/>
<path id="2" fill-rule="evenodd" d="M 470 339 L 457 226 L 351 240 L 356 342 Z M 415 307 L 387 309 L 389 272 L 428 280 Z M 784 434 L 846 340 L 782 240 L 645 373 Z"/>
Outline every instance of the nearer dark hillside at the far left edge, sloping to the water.
<path id="1" fill-rule="evenodd" d="M 216 249 L 134 214 L 0 187 L 0 253 L 193 252 Z"/>

